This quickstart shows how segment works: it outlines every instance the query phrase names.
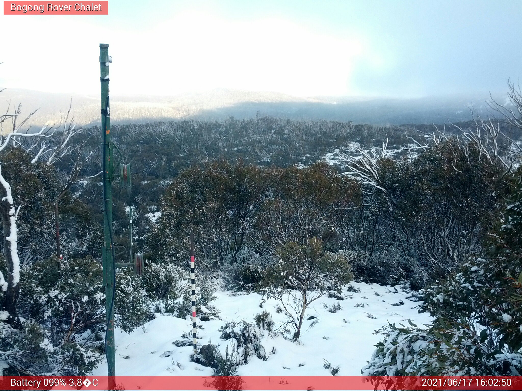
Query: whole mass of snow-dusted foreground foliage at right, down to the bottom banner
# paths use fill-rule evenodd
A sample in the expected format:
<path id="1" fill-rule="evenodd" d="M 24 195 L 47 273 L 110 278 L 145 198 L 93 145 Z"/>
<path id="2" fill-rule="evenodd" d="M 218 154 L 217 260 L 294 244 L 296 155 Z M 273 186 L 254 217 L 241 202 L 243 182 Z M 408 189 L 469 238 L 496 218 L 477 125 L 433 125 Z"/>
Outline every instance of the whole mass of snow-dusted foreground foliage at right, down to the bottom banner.
<path id="1" fill-rule="evenodd" d="M 522 375 L 520 172 L 487 258 L 464 263 L 425 292 L 428 329 L 386 330 L 365 375 Z"/>

